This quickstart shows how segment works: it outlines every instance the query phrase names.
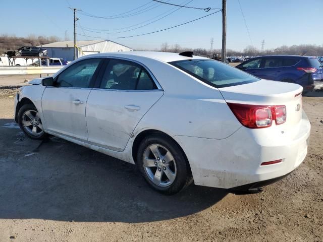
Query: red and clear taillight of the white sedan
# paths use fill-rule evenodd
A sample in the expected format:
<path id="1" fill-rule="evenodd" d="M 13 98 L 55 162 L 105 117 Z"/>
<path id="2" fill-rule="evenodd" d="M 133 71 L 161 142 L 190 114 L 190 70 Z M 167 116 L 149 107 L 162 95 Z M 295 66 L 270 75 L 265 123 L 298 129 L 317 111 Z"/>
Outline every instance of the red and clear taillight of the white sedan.
<path id="1" fill-rule="evenodd" d="M 228 103 L 228 105 L 239 122 L 250 129 L 270 127 L 273 120 L 276 125 L 286 122 L 285 105 L 259 106 L 241 103 Z"/>

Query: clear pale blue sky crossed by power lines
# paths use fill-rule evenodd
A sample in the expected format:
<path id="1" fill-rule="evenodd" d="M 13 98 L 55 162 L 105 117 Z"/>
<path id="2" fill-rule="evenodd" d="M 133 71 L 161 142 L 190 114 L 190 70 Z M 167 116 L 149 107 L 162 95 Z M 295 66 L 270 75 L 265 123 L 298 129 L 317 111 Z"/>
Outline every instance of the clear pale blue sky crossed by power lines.
<path id="1" fill-rule="evenodd" d="M 188 3 L 186 6 L 198 8 L 222 7 L 221 0 L 162 1 L 178 5 Z M 78 35 L 78 40 L 106 38 L 135 49 L 159 48 L 162 42 L 168 42 L 170 45 L 178 43 L 182 47 L 202 47 L 208 49 L 210 48 L 210 39 L 213 37 L 213 48 L 221 48 L 221 12 L 163 32 L 140 37 L 112 38 L 165 29 L 203 17 L 217 10 L 210 10 L 205 13 L 203 10 L 179 9 L 178 7 L 155 3 L 151 0 L 33 0 L 28 2 L 22 0 L 2 0 L 1 2 L 1 34 L 15 34 L 16 36 L 28 36 L 29 34 L 37 36 L 57 35 L 64 40 L 65 31 L 67 30 L 69 39 L 73 40 L 73 12 L 68 9 L 69 5 L 95 16 L 118 15 L 144 5 L 141 8 L 124 14 L 134 16 L 124 18 L 92 18 L 83 15 L 83 12 L 78 12 L 77 17 L 79 17 L 79 21 L 77 22 L 79 27 L 77 32 L 82 35 L 85 33 L 85 35 L 91 36 Z M 240 3 L 250 37 L 238 0 L 227 0 L 227 48 L 242 50 L 247 45 L 261 48 L 262 40 L 265 41 L 265 49 L 293 44 L 323 45 L 323 0 L 240 0 Z M 130 30 L 148 24 L 175 10 L 177 11 L 155 23 Z M 140 13 L 140 11 L 144 13 Z M 106 33 L 88 32 L 82 30 L 80 26 L 83 29 L 92 29 L 95 32 Z M 129 26 L 133 27 L 129 28 Z M 120 31 L 126 32 L 111 33 Z"/>

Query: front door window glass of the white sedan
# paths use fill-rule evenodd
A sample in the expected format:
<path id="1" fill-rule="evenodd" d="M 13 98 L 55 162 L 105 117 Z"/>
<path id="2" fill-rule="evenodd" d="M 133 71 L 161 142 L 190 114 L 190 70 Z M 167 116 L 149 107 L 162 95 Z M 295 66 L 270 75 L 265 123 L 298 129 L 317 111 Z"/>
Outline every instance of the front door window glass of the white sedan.
<path id="1" fill-rule="evenodd" d="M 56 85 L 58 87 L 89 87 L 100 62 L 100 58 L 90 58 L 73 64 L 58 76 Z"/>

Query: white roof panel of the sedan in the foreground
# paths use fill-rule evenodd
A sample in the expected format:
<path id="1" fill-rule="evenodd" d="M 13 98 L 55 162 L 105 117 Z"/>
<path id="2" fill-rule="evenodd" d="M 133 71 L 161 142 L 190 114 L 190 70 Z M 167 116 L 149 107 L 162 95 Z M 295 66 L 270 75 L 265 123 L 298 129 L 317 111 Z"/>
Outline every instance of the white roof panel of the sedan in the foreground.
<path id="1" fill-rule="evenodd" d="M 150 59 L 156 59 L 161 62 L 175 62 L 182 61 L 186 59 L 207 59 L 206 57 L 201 57 L 197 55 L 193 55 L 193 57 L 187 57 L 180 55 L 179 53 L 171 53 L 171 52 L 157 52 L 157 51 L 125 51 L 125 52 L 107 52 L 107 53 L 98 53 L 91 54 L 86 56 L 115 56 L 115 57 L 124 57 L 130 59 L 136 59 L 136 57 L 146 57 Z"/>

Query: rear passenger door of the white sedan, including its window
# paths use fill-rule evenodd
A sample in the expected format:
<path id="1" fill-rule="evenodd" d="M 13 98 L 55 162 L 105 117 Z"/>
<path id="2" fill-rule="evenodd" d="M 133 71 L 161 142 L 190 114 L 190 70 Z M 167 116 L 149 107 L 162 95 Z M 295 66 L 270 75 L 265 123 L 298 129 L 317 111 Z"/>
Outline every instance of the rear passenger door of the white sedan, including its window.
<path id="1" fill-rule="evenodd" d="M 122 151 L 164 91 L 145 67 L 125 59 L 106 59 L 97 79 L 86 104 L 88 142 Z"/>

